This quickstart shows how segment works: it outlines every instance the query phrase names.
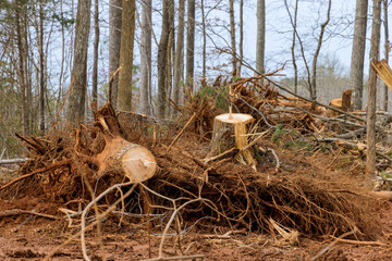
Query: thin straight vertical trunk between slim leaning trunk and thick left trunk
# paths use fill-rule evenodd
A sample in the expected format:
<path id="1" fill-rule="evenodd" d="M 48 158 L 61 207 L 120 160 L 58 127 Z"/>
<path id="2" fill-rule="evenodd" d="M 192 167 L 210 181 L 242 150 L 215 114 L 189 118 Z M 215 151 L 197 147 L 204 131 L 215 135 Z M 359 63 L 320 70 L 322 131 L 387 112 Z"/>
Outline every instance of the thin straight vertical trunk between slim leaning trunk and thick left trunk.
<path id="1" fill-rule="evenodd" d="M 45 53 L 44 53 L 44 3 L 39 2 L 39 129 L 45 132 Z"/>

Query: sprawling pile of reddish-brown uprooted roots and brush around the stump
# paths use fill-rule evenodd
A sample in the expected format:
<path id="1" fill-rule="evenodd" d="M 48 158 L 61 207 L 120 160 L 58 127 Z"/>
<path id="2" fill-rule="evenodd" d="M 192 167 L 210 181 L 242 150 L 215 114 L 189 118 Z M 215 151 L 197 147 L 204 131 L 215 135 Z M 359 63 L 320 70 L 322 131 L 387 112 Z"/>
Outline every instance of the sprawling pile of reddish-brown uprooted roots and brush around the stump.
<path id="1" fill-rule="evenodd" d="M 269 125 L 284 124 L 287 128 L 292 124 L 295 134 L 287 132 L 285 137 L 277 137 L 281 128 L 275 127 L 254 142 L 257 171 L 238 164 L 233 158 L 204 161 L 208 158 L 209 134 L 219 109 L 215 107 L 217 100 L 196 96 L 182 111 L 183 122 L 195 112 L 197 116 L 180 137 L 181 142 L 169 146 L 174 136 L 168 137 L 168 132 L 156 133 L 156 129 L 164 128 L 152 128 L 151 123 L 138 126 L 148 132 L 124 132 L 128 141 L 146 147 L 157 160 L 157 174 L 144 184 L 158 194 L 179 199 L 179 204 L 197 197 L 206 199 L 191 203 L 180 212 L 181 219 L 188 223 L 204 219 L 211 226 L 230 225 L 261 233 L 273 233 L 279 224 L 289 231 L 317 236 L 341 235 L 356 229 L 356 236 L 371 238 L 377 222 L 370 222 L 371 206 L 366 192 L 355 184 L 347 184 L 344 177 L 331 173 L 330 166 L 322 164 L 322 160 L 333 163 L 336 148 L 327 148 L 331 153 L 320 153 L 316 158 L 314 156 L 320 152 L 320 147 L 309 148 L 311 142 L 301 148 L 280 147 L 273 142 L 282 139 L 284 144 L 304 130 L 319 130 L 320 126 L 316 125 L 310 113 L 299 109 L 281 113 L 282 96 L 273 88 L 261 86 L 259 80 L 254 77 L 232 84 L 228 100 L 238 112 L 250 113 L 259 120 L 253 127 L 255 133 L 267 132 Z M 295 102 L 295 107 L 299 104 L 301 101 Z M 121 125 L 126 124 L 130 123 L 121 122 Z M 97 123 L 87 126 L 73 132 L 51 129 L 40 138 L 20 136 L 28 148 L 29 160 L 21 167 L 19 181 L 1 187 L 1 198 L 30 195 L 76 210 L 78 204 L 86 204 L 93 198 L 86 181 L 95 196 L 124 182 L 123 174 L 115 170 L 97 175 L 95 159 L 106 141 L 95 127 Z M 269 151 L 277 153 L 272 157 Z M 118 197 L 115 192 L 109 194 L 99 204 L 103 208 Z M 126 199 L 126 211 L 143 214 L 139 200 L 137 196 Z M 149 195 L 148 202 L 142 204 L 170 207 L 170 202 L 154 194 Z M 155 214 L 168 211 L 151 208 Z"/>

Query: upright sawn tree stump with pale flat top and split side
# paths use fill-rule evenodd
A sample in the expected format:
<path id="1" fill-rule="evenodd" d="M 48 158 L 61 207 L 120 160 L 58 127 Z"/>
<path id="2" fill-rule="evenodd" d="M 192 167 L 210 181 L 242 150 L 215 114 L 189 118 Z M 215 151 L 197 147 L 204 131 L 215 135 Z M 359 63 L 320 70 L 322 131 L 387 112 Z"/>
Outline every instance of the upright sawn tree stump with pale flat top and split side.
<path id="1" fill-rule="evenodd" d="M 210 144 L 211 156 L 218 156 L 232 148 L 240 150 L 240 161 L 256 169 L 256 160 L 252 148 L 248 148 L 246 124 L 254 117 L 249 114 L 226 113 L 215 117 L 212 139 Z"/>

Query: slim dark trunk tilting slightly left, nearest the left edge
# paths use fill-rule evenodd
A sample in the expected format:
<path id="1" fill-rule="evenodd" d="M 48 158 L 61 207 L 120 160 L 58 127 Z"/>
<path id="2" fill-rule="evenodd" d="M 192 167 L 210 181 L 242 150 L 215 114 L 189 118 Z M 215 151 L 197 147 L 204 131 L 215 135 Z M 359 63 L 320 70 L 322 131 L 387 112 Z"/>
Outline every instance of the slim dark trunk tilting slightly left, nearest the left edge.
<path id="1" fill-rule="evenodd" d="M 27 61 L 26 52 L 24 45 L 24 34 L 25 30 L 23 28 L 22 22 L 21 22 L 21 10 L 22 7 L 19 3 L 19 0 L 15 0 L 15 23 L 16 23 L 16 46 L 17 46 L 17 57 L 19 57 L 19 66 L 17 66 L 17 78 L 19 78 L 19 85 L 20 85 L 20 99 L 22 103 L 22 125 L 23 125 L 23 135 L 28 135 L 28 114 L 27 114 L 27 83 L 26 83 L 26 66 L 25 64 Z"/>

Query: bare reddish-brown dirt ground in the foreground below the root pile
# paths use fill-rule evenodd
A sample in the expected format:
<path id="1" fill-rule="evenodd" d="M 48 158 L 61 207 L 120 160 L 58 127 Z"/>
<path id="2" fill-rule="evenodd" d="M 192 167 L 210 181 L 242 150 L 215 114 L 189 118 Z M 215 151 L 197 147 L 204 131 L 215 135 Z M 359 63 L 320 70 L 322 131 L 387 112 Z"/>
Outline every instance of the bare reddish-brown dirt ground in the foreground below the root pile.
<path id="1" fill-rule="evenodd" d="M 280 241 L 279 235 L 226 234 L 230 227 L 195 227 L 181 236 L 180 247 L 175 236 L 166 240 L 164 257 L 205 254 L 205 260 L 313 260 L 328 248 L 317 260 L 392 260 L 392 204 L 377 202 L 375 217 L 380 217 L 382 233 L 377 239 L 384 246 L 336 243 L 333 238 L 307 238 L 299 235 L 297 244 Z M 2 211 L 11 209 L 35 210 L 56 214 L 57 206 L 36 198 L 0 201 Z M 376 219 L 377 220 L 377 219 Z M 102 243 L 107 260 L 145 260 L 158 256 L 161 233 L 148 233 L 140 223 L 124 222 L 111 217 L 103 222 Z M 69 227 L 65 220 L 48 220 L 32 214 L 2 217 L 0 220 L 0 260 L 41 260 L 71 235 L 77 227 Z M 223 236 L 222 236 L 223 235 Z M 91 260 L 100 258 L 99 240 L 95 232 L 86 235 L 87 251 Z M 328 247 L 330 245 L 330 247 Z M 180 248 L 182 250 L 180 250 Z M 181 252 L 183 251 L 183 253 Z M 79 238 L 61 247 L 51 260 L 83 260 Z M 200 260 L 200 259 L 198 259 Z"/>

